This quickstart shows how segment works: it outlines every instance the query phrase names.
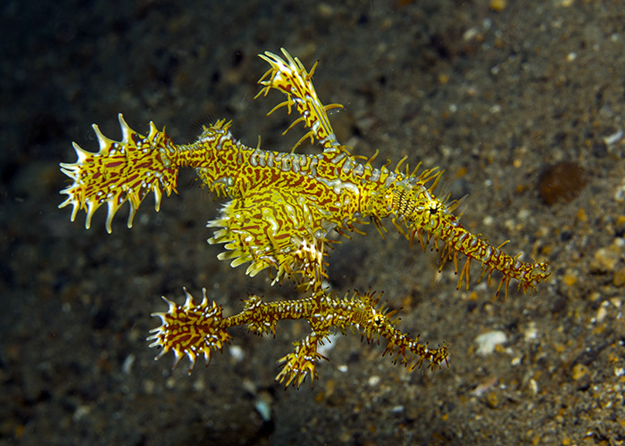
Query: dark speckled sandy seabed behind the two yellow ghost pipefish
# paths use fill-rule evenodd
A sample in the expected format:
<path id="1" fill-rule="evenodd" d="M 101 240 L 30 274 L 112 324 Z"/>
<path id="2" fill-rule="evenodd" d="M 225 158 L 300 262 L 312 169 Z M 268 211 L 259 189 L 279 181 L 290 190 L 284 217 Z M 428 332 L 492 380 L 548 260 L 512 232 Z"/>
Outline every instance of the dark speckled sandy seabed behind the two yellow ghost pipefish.
<path id="1" fill-rule="evenodd" d="M 625 441 L 625 4 L 621 0 L 135 2 L 9 1 L 2 13 L 0 444 L 621 444 Z M 339 293 L 369 287 L 403 306 L 402 327 L 450 345 L 449 368 L 409 372 L 383 346 L 337 338 L 320 381 L 274 384 L 276 359 L 305 335 L 233 330 L 233 346 L 187 376 L 154 362 L 148 330 L 164 294 L 206 287 L 226 314 L 246 293 L 290 285 L 216 260 L 204 227 L 221 205 L 194 182 L 125 227 L 90 230 L 58 210 L 71 141 L 120 137 L 116 115 L 178 142 L 234 120 L 247 145 L 287 151 L 301 128 L 253 101 L 284 46 L 306 67 L 339 139 L 379 164 L 441 166 L 462 221 L 506 252 L 546 258 L 537 294 L 456 291 L 453 268 L 373 227 L 331 253 Z M 315 150 L 305 148 L 303 150 Z M 547 205 L 548 166 L 585 169 L 579 194 Z M 571 171 L 558 173 L 566 182 Z M 566 183 L 564 183 L 566 184 Z M 562 194 L 562 199 L 567 194 Z M 125 214 L 122 209 L 121 214 Z M 390 223 L 387 227 L 391 228 Z M 473 269 L 477 277 L 479 268 Z M 477 336 L 506 342 L 478 354 Z M 235 353 L 235 354 L 233 354 Z M 264 417 L 262 417 L 263 410 Z"/>

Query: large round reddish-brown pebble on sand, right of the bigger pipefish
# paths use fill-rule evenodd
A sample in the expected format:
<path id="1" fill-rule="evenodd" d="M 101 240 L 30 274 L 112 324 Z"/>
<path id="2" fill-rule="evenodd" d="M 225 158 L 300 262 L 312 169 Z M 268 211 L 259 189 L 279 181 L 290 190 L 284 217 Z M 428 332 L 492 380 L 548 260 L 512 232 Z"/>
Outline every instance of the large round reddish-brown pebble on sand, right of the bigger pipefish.
<path id="1" fill-rule="evenodd" d="M 586 186 L 585 170 L 577 162 L 560 161 L 547 166 L 538 179 L 538 194 L 546 204 L 570 202 Z"/>

